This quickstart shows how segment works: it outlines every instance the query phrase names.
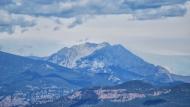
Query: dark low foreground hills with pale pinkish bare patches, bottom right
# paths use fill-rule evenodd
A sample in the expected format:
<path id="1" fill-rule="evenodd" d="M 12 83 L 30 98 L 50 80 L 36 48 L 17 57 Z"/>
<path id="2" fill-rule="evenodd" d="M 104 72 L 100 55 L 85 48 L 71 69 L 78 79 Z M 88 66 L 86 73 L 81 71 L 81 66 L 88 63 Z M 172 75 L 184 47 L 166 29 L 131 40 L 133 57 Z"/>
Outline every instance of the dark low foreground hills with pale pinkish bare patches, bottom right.
<path id="1" fill-rule="evenodd" d="M 81 89 L 34 107 L 189 107 L 189 96 L 189 83 L 157 87 L 143 81 L 129 81 L 112 87 Z"/>

